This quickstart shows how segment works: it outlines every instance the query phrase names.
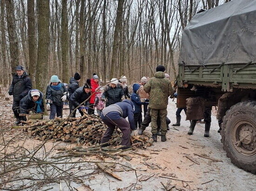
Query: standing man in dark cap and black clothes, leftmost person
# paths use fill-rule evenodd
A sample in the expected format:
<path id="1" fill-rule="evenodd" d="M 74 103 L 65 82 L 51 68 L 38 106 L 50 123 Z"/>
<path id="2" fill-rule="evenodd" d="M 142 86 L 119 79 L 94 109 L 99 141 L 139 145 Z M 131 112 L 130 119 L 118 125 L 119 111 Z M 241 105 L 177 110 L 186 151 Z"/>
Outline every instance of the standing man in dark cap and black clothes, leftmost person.
<path id="1" fill-rule="evenodd" d="M 20 116 L 20 100 L 27 96 L 28 91 L 32 89 L 32 83 L 23 66 L 17 66 L 15 70 L 16 74 L 13 76 L 13 81 L 8 93 L 10 96 L 13 95 L 13 113 L 17 119 L 15 124 L 18 125 L 22 120 Z"/>

